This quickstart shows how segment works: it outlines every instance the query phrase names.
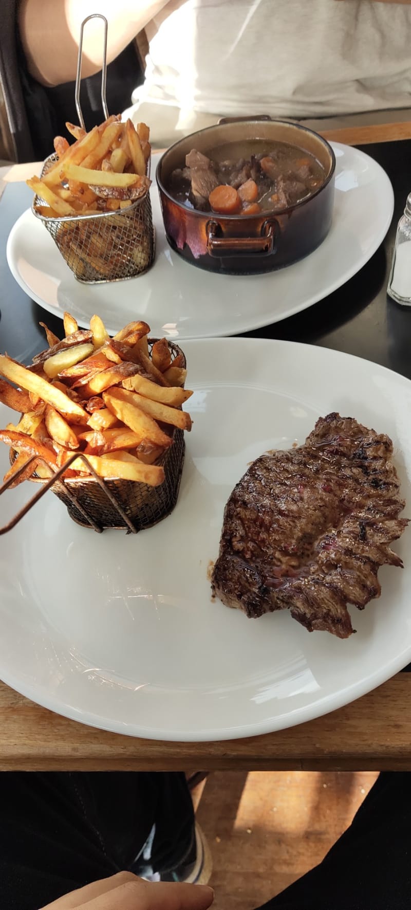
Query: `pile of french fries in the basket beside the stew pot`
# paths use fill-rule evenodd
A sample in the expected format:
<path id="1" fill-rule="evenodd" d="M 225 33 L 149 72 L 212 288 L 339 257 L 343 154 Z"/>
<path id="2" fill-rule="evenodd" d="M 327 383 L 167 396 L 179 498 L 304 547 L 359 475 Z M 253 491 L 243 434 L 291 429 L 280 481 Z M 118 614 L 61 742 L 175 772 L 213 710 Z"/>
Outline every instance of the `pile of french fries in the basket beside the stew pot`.
<path id="1" fill-rule="evenodd" d="M 69 145 L 55 137 L 56 161 L 43 177 L 26 183 L 45 204 L 35 211 L 45 217 L 98 215 L 129 207 L 145 195 L 151 181 L 145 176 L 150 157 L 150 131 L 144 123 L 110 116 L 86 133 L 81 126 L 65 125 L 75 137 Z"/>

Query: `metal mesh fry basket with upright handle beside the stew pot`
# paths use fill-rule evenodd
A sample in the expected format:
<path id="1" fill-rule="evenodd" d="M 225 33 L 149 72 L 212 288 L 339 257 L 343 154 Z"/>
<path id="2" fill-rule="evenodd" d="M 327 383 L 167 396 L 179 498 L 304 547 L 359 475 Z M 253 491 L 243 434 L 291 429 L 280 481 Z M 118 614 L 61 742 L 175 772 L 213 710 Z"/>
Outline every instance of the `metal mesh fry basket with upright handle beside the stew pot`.
<path id="1" fill-rule="evenodd" d="M 105 23 L 101 92 L 105 116 L 108 116 L 105 101 L 107 22 L 103 15 L 93 14 L 87 16 L 81 26 L 75 81 L 75 106 L 82 126 L 84 118 L 80 106 L 80 76 L 83 30 L 85 23 L 93 18 L 103 19 Z M 56 160 L 55 154 L 46 158 L 42 177 Z M 146 177 L 150 175 L 150 158 L 146 164 L 145 174 Z M 143 275 L 152 266 L 155 258 L 155 229 L 149 190 L 126 208 L 97 215 L 46 217 L 35 210 L 35 207 L 44 203 L 44 199 L 35 196 L 32 211 L 35 217 L 43 222 L 78 281 L 85 284 L 121 281 L 124 278 Z"/>

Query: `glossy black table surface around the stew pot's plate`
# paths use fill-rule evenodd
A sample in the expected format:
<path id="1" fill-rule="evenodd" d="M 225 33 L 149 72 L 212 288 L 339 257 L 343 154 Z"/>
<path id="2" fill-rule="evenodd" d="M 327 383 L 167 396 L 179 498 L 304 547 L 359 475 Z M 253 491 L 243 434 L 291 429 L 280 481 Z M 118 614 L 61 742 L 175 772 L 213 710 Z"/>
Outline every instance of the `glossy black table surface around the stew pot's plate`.
<path id="1" fill-rule="evenodd" d="M 386 239 L 367 265 L 334 294 L 302 313 L 265 329 L 248 332 L 248 338 L 305 341 L 325 348 L 356 354 L 411 379 L 411 308 L 401 307 L 386 297 L 391 252 L 396 224 L 411 190 L 411 140 L 366 146 L 390 177 L 396 207 Z M 15 283 L 5 259 L 5 244 L 17 217 L 31 203 L 25 184 L 9 184 L 0 201 L 0 350 L 28 362 L 45 346 L 40 319 L 45 311 Z M 58 335 L 61 320 L 46 315 L 47 324 Z"/>

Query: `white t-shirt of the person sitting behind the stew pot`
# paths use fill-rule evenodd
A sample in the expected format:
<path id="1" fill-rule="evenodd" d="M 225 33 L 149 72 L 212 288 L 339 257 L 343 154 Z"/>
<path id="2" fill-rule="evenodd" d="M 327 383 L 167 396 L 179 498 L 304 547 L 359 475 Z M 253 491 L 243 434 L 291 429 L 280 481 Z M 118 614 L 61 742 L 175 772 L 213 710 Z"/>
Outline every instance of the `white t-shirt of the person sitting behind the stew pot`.
<path id="1" fill-rule="evenodd" d="M 146 35 L 145 85 L 131 112 L 135 120 L 145 113 L 157 144 L 218 116 L 306 118 L 411 106 L 408 5 L 171 0 Z"/>

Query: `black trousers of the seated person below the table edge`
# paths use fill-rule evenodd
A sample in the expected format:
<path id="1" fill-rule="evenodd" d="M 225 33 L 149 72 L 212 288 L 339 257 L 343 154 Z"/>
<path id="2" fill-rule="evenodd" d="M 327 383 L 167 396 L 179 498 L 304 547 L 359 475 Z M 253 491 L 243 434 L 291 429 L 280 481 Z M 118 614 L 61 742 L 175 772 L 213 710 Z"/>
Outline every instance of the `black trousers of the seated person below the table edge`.
<path id="1" fill-rule="evenodd" d="M 410 808 L 411 775 L 380 774 L 323 862 L 265 910 L 409 910 Z M 38 910 L 120 869 L 138 873 L 153 825 L 151 862 L 173 868 L 194 816 L 180 773 L 1 773 L 0 822 L 0 907 Z"/>

